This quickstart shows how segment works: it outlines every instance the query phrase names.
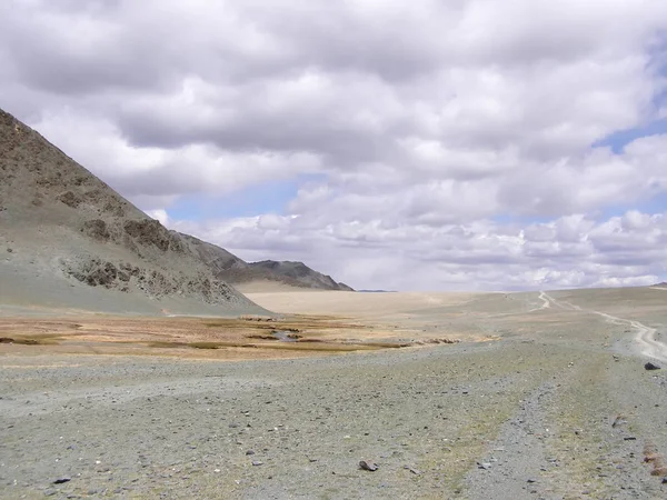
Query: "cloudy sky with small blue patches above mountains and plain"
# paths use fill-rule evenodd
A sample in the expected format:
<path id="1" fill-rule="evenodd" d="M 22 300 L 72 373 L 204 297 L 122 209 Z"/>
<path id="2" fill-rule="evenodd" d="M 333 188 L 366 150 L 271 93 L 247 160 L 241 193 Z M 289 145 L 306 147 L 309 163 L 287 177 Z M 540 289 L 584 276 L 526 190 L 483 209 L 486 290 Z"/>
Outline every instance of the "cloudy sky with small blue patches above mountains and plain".
<path id="1" fill-rule="evenodd" d="M 357 289 L 667 279 L 665 0 L 3 0 L 0 108 Z"/>

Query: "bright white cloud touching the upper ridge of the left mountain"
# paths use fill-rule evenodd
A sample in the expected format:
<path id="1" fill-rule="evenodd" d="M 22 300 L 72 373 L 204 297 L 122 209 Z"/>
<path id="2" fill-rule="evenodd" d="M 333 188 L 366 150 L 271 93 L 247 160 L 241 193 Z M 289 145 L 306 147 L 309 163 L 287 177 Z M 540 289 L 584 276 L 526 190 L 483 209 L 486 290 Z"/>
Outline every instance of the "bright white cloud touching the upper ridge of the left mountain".
<path id="1" fill-rule="evenodd" d="M 182 194 L 225 194 L 258 179 L 290 178 L 320 167 L 319 159 L 306 151 L 235 152 L 209 143 L 133 148 L 115 123 L 71 112 L 46 114 L 37 128 L 64 151 L 76 151 L 78 161 L 125 196 L 162 203 Z"/>

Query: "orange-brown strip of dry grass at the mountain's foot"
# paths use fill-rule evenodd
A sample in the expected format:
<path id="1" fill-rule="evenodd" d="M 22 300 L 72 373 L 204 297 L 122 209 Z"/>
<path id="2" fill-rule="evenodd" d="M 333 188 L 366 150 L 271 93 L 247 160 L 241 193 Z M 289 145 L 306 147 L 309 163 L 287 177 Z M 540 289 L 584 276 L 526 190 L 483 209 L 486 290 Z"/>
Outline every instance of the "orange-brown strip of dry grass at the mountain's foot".
<path id="1" fill-rule="evenodd" d="M 289 341 L 275 333 L 282 332 Z M 405 333 L 405 332 L 400 332 Z M 76 321 L 0 319 L 0 352 L 51 347 L 60 353 L 140 354 L 215 359 L 291 358 L 392 349 L 448 339 L 399 340 L 396 331 L 349 319 L 317 316 L 272 318 L 118 318 Z"/>

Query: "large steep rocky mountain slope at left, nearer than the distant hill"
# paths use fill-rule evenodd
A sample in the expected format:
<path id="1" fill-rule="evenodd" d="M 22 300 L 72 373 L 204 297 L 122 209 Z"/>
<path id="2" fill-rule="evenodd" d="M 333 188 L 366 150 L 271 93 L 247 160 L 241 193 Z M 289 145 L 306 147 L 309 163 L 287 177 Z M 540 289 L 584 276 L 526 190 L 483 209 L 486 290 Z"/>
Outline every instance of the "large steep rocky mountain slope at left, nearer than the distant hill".
<path id="1" fill-rule="evenodd" d="M 266 312 L 221 279 L 237 261 L 166 229 L 0 110 L 0 312 Z"/>

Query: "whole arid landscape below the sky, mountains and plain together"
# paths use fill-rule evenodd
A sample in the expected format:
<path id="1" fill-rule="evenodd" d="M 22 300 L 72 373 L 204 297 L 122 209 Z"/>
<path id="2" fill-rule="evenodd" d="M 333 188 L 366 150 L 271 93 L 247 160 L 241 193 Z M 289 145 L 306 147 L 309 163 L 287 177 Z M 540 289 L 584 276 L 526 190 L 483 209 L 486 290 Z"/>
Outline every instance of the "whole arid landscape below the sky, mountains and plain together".
<path id="1" fill-rule="evenodd" d="M 666 303 L 248 263 L 0 112 L 0 497 L 665 498 Z"/>

